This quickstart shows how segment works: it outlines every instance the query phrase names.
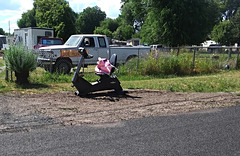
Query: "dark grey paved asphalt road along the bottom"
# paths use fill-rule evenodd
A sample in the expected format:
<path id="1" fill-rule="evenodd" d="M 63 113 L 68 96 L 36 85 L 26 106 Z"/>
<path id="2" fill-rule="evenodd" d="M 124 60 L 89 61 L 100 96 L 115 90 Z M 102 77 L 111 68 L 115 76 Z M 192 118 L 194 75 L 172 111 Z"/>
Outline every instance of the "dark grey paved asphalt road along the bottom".
<path id="1" fill-rule="evenodd" d="M 0 134 L 1 155 L 238 156 L 240 106 Z"/>

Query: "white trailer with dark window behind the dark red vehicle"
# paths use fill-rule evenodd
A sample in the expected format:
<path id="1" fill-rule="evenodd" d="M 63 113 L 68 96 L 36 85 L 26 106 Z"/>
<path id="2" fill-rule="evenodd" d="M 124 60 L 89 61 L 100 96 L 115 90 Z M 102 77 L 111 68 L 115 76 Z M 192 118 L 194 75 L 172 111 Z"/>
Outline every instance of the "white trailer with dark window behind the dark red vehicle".
<path id="1" fill-rule="evenodd" d="M 26 49 L 32 50 L 42 37 L 53 37 L 52 28 L 28 27 L 14 29 L 14 44 L 23 44 Z"/>

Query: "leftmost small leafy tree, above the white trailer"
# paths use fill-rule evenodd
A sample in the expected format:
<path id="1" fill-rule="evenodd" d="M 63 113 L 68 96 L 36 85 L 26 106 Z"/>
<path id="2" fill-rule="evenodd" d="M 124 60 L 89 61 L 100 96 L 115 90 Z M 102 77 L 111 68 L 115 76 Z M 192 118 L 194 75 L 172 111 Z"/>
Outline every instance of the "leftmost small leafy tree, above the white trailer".
<path id="1" fill-rule="evenodd" d="M 35 19 L 36 10 L 33 8 L 22 14 L 22 18 L 17 21 L 17 25 L 19 28 L 26 27 L 36 27 L 36 19 Z"/>

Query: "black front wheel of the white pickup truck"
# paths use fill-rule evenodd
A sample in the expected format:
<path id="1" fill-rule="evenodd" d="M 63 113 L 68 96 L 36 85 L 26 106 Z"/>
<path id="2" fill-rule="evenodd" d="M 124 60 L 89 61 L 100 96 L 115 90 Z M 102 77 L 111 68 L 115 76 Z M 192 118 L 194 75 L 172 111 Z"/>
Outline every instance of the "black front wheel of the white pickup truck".
<path id="1" fill-rule="evenodd" d="M 68 60 L 58 60 L 56 63 L 56 72 L 61 74 L 69 74 L 71 71 L 71 63 Z"/>

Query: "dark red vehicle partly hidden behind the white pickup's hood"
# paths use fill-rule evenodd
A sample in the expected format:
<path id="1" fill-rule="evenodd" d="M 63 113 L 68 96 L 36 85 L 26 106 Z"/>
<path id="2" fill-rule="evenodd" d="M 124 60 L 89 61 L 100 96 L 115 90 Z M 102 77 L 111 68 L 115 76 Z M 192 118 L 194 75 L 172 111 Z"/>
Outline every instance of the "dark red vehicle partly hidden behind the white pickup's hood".
<path id="1" fill-rule="evenodd" d="M 37 45 L 34 45 L 33 49 L 38 50 L 41 47 L 48 47 L 52 45 L 63 45 L 63 39 L 62 38 L 49 38 L 49 37 L 43 37 L 39 40 Z"/>

